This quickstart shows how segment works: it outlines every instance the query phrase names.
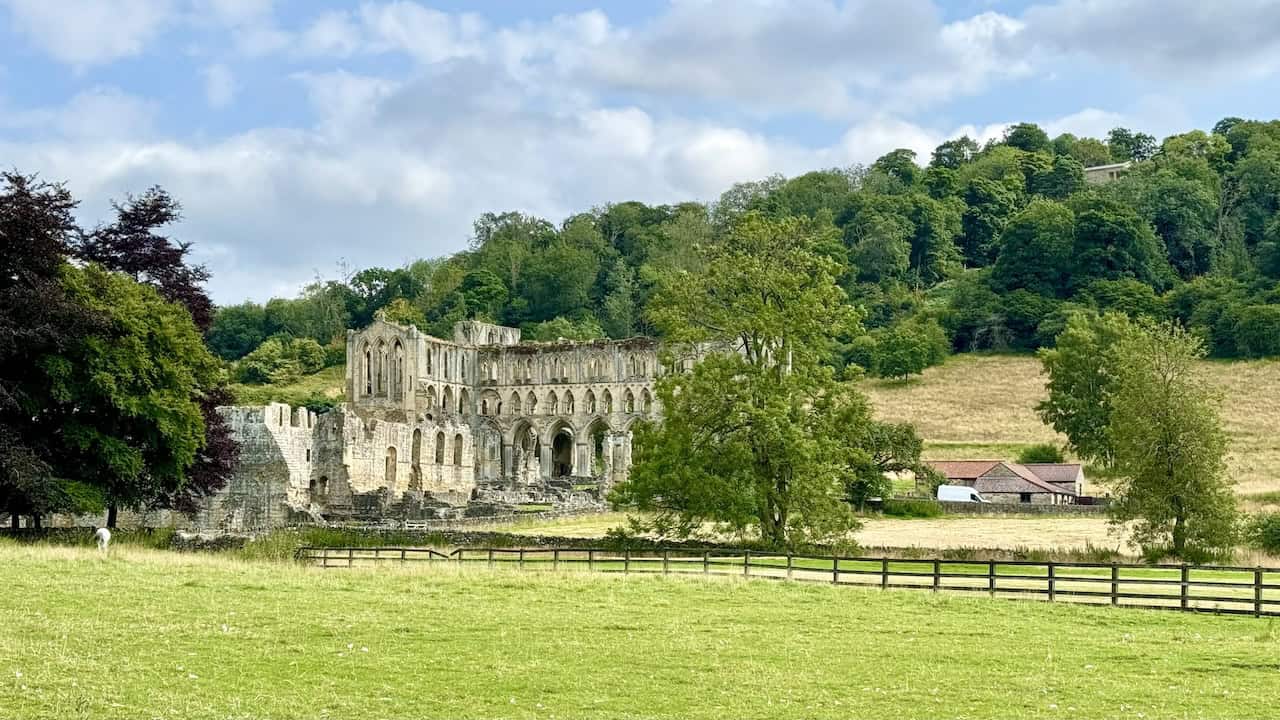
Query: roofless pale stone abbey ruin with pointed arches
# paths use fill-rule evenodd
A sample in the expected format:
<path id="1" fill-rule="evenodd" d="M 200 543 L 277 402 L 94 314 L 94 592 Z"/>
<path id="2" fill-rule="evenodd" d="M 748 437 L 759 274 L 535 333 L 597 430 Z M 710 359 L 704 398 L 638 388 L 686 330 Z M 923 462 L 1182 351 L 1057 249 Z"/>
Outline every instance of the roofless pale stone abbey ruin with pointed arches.
<path id="1" fill-rule="evenodd" d="M 599 505 L 631 465 L 631 428 L 660 414 L 649 338 L 521 342 L 480 322 L 452 340 L 375 320 L 347 332 L 346 404 L 223 411 L 236 478 L 196 524 L 425 520 Z"/>

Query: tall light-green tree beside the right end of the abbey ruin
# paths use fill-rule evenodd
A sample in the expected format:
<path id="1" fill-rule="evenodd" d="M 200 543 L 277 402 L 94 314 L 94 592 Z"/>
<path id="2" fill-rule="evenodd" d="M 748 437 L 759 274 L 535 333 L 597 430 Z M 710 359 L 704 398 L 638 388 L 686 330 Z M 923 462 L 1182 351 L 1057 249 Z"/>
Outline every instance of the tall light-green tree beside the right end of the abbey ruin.
<path id="1" fill-rule="evenodd" d="M 854 527 L 845 484 L 870 461 L 872 419 L 822 363 L 856 327 L 837 264 L 815 252 L 835 232 L 746 214 L 704 249 L 707 272 L 664 278 L 650 313 L 673 352 L 719 350 L 658 382 L 663 421 L 637 432 L 617 502 L 663 527 L 723 523 L 776 546 Z"/>

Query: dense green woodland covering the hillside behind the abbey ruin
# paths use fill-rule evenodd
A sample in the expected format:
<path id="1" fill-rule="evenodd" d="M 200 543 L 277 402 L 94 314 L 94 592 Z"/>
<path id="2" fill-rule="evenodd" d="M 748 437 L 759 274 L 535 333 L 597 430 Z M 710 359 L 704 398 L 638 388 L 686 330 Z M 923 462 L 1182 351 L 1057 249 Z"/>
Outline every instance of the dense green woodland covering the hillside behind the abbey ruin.
<path id="1" fill-rule="evenodd" d="M 1084 168 L 1111 163 L 1130 164 L 1085 182 Z M 1050 138 L 1019 123 L 986 145 L 961 137 L 928 159 L 895 150 L 869 167 L 773 176 L 709 204 L 618 202 L 558 225 L 485 214 L 462 252 L 221 307 L 210 346 L 237 360 L 276 337 L 283 347 L 242 378 L 262 382 L 271 368 L 296 374 L 291 340 L 335 361 L 343 331 L 376 313 L 444 337 L 470 318 L 530 340 L 660 336 L 658 278 L 696 270 L 698 247 L 746 213 L 817 223 L 817 251 L 863 318 L 826 350 L 837 369 L 906 377 L 948 352 L 1047 347 L 1071 315 L 1107 311 L 1178 322 L 1212 357 L 1280 355 L 1280 120 L 1239 118 L 1161 142 L 1126 128 Z"/>

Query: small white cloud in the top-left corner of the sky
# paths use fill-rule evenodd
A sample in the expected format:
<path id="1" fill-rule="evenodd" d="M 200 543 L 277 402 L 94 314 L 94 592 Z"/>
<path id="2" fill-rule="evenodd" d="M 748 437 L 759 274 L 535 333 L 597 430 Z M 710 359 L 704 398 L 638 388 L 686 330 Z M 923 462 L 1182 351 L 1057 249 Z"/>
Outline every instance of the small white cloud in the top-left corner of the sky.
<path id="1" fill-rule="evenodd" d="M 78 68 L 142 53 L 173 13 L 169 0 L 5 0 L 15 29 Z"/>

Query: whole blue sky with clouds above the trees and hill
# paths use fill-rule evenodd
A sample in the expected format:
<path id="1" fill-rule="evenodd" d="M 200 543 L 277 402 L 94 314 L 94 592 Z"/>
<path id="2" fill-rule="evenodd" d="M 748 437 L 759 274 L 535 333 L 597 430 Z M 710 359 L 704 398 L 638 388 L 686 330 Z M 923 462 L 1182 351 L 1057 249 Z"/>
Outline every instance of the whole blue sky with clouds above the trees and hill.
<path id="1" fill-rule="evenodd" d="M 486 211 L 714 200 L 908 147 L 1280 117 L 1276 0 L 0 0 L 0 167 L 159 184 L 215 302 Z"/>

